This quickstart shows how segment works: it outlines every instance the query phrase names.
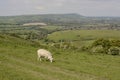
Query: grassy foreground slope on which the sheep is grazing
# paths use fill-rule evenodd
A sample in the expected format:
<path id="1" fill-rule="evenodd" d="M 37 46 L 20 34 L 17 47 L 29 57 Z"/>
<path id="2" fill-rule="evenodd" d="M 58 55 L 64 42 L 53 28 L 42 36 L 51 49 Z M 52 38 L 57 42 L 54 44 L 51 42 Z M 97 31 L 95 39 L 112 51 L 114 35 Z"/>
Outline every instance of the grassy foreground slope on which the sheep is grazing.
<path id="1" fill-rule="evenodd" d="M 48 48 L 54 62 L 39 62 L 38 48 L 42 47 L 0 35 L 0 80 L 120 80 L 120 56 Z"/>

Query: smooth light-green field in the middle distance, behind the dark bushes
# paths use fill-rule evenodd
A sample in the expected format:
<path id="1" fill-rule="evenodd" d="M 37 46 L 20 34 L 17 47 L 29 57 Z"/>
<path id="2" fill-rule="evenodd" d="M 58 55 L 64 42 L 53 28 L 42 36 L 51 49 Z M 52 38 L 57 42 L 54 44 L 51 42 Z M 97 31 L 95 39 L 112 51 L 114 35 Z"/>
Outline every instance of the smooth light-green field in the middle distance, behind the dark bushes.
<path id="1" fill-rule="evenodd" d="M 59 40 L 73 41 L 75 46 L 84 46 L 100 38 L 120 39 L 119 34 L 119 30 L 66 30 L 54 32 L 48 36 L 48 39 L 56 42 Z"/>

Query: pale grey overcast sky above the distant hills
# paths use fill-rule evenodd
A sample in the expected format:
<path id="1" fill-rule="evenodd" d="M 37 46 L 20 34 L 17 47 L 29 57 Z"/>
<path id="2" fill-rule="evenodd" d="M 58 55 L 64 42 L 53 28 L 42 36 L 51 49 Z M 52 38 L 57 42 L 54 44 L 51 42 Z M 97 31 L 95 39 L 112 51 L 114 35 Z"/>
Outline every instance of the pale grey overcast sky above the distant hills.
<path id="1" fill-rule="evenodd" d="M 0 0 L 0 16 L 56 13 L 120 16 L 120 0 Z"/>

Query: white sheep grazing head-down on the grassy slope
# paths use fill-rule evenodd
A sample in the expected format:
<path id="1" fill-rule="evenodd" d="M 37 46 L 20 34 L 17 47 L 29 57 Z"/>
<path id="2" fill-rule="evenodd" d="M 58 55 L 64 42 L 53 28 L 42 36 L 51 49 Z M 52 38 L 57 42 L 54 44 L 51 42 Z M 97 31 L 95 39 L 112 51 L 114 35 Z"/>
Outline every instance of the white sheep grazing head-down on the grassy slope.
<path id="1" fill-rule="evenodd" d="M 37 50 L 37 55 L 38 55 L 38 60 L 40 60 L 40 61 L 41 61 L 41 57 L 44 57 L 44 58 L 50 60 L 50 62 L 53 61 L 52 54 L 45 49 Z"/>

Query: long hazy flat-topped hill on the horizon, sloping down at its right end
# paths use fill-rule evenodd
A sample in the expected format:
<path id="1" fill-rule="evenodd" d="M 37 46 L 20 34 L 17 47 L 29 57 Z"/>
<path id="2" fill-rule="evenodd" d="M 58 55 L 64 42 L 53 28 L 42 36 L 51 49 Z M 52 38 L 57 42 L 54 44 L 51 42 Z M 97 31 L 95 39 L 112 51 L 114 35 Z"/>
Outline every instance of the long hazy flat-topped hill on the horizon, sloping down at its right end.
<path id="1" fill-rule="evenodd" d="M 0 22 L 6 23 L 26 23 L 26 22 L 69 22 L 85 18 L 78 14 L 41 14 L 41 15 L 21 15 L 0 17 Z"/>

